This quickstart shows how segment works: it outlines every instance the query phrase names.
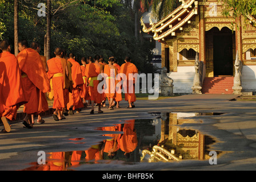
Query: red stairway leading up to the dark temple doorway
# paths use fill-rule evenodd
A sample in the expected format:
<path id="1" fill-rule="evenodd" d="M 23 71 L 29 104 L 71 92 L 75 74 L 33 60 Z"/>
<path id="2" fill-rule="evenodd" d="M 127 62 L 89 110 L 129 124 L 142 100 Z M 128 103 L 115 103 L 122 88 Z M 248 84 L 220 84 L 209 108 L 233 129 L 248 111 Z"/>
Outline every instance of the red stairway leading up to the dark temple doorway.
<path id="1" fill-rule="evenodd" d="M 203 80 L 203 94 L 233 94 L 234 77 L 206 77 Z"/>

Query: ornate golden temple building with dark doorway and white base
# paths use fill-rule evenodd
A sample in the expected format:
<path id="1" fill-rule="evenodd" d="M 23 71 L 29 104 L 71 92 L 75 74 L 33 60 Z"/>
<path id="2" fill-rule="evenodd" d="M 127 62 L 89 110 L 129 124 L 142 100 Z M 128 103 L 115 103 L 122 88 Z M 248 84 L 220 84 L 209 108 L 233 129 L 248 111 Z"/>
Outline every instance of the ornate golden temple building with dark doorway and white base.
<path id="1" fill-rule="evenodd" d="M 253 94 L 256 91 L 253 16 L 226 17 L 217 0 L 181 2 L 181 6 L 158 22 L 149 18 L 150 23 L 146 24 L 141 19 L 142 31 L 161 43 L 161 64 L 173 79 L 173 93 L 194 93 L 198 76 L 198 93 Z M 245 20 L 251 23 L 246 24 Z M 234 92 L 238 87 L 240 92 Z"/>

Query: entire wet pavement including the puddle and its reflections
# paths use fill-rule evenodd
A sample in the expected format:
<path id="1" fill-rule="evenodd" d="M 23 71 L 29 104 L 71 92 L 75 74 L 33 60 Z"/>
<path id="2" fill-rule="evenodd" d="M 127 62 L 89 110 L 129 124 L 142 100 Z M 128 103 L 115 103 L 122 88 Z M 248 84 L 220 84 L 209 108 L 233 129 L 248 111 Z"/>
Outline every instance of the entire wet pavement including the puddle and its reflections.
<path id="1" fill-rule="evenodd" d="M 102 114 L 46 117 L 33 129 L 14 123 L 11 133 L 0 134 L 0 169 L 255 170 L 256 103 L 235 97 L 138 100 L 133 109 L 122 101 Z"/>

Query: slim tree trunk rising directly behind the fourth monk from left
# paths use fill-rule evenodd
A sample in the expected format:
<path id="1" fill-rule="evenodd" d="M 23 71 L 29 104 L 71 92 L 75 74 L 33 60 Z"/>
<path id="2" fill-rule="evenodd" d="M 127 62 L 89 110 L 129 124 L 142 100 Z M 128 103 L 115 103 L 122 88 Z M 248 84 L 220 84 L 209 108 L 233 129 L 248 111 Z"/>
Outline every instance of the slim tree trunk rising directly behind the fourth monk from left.
<path id="1" fill-rule="evenodd" d="M 51 40 L 51 1 L 47 0 L 46 60 L 49 60 L 51 56 L 50 40 Z"/>

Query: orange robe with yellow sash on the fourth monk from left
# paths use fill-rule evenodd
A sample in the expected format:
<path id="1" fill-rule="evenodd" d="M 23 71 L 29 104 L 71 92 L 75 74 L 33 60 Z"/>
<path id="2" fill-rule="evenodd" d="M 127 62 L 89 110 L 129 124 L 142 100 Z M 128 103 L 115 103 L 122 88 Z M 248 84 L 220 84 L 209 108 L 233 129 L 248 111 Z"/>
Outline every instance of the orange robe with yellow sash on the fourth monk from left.
<path id="1" fill-rule="evenodd" d="M 61 58 L 54 57 L 47 61 L 48 69 L 47 75 L 53 81 L 54 101 L 53 109 L 61 109 L 65 107 L 65 89 L 64 77 Z"/>

